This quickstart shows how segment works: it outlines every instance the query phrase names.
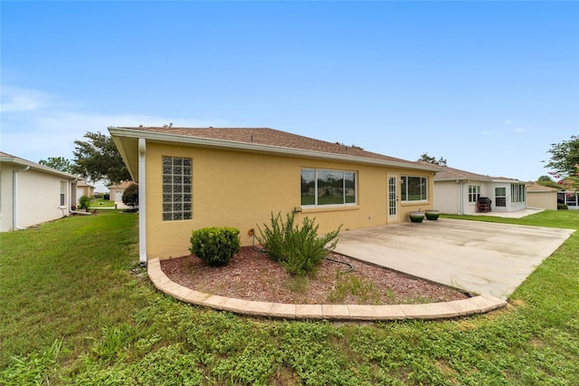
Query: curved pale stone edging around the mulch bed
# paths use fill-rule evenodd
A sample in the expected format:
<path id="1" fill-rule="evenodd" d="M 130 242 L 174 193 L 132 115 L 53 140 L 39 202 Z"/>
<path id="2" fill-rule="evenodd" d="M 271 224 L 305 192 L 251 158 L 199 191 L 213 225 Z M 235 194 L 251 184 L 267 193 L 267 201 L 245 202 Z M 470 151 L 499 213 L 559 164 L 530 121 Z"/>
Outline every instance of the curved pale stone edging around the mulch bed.
<path id="1" fill-rule="evenodd" d="M 214 294 L 204 294 L 179 285 L 161 270 L 156 257 L 148 260 L 147 274 L 158 290 L 177 299 L 204 305 L 220 311 L 280 319 L 326 319 L 332 321 L 388 321 L 401 319 L 448 319 L 472 314 L 485 314 L 507 305 L 507 301 L 490 295 L 464 300 L 430 304 L 283 304 L 253 302 Z"/>

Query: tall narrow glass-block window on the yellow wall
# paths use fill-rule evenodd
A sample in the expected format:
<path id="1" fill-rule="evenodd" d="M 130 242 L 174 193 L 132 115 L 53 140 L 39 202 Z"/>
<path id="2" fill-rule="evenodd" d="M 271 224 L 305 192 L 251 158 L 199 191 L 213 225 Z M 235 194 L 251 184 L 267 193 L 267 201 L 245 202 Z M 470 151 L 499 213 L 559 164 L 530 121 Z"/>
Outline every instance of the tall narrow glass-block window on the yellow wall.
<path id="1" fill-rule="evenodd" d="M 163 220 L 193 218 L 193 159 L 163 157 Z"/>

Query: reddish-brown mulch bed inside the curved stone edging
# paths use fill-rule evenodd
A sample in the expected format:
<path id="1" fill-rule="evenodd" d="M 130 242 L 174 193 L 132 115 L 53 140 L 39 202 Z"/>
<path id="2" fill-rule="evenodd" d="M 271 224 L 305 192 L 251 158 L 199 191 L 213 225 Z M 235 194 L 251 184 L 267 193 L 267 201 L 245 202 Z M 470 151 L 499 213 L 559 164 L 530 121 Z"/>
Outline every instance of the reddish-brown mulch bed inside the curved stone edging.
<path id="1" fill-rule="evenodd" d="M 468 294 L 332 253 L 315 275 L 289 273 L 264 253 L 242 246 L 228 265 L 211 267 L 190 255 L 161 261 L 174 282 L 195 291 L 244 300 L 289 304 L 418 304 L 466 299 Z"/>

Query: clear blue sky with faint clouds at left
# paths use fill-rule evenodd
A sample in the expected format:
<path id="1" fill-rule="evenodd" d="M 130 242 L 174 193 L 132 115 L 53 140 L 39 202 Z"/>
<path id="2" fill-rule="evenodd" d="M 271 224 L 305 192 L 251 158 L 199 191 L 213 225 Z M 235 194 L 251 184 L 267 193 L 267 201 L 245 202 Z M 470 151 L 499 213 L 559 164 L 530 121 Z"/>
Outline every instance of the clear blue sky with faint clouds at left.
<path id="1" fill-rule="evenodd" d="M 34 162 L 171 122 L 536 180 L 579 135 L 575 1 L 2 1 L 0 17 L 0 149 Z"/>

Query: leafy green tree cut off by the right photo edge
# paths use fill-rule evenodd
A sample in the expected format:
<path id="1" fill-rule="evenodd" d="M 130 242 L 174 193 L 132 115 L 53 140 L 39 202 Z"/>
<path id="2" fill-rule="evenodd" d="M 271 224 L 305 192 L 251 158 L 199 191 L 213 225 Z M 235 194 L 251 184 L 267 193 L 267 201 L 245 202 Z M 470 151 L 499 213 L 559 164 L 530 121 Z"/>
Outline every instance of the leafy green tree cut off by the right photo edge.
<path id="1" fill-rule="evenodd" d="M 560 179 L 559 183 L 569 188 L 579 188 L 579 136 L 572 135 L 571 140 L 552 143 L 551 159 L 545 167 L 555 169 L 549 174 Z"/>

